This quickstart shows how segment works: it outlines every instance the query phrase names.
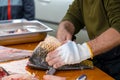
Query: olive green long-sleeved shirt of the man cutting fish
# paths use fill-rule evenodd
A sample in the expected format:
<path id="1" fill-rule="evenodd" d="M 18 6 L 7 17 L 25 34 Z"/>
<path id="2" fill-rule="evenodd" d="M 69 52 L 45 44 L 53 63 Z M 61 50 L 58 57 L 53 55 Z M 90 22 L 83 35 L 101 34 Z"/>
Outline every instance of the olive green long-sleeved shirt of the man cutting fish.
<path id="1" fill-rule="evenodd" d="M 110 27 L 120 32 L 120 0 L 74 0 L 64 20 L 74 24 L 75 34 L 86 27 L 90 39 Z"/>

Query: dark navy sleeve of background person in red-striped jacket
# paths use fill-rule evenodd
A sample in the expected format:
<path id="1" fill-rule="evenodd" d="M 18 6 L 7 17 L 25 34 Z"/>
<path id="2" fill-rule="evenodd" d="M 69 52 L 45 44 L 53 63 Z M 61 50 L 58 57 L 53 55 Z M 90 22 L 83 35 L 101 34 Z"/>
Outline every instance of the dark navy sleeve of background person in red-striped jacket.
<path id="1" fill-rule="evenodd" d="M 24 18 L 33 20 L 35 17 L 35 4 L 34 0 L 23 0 Z"/>

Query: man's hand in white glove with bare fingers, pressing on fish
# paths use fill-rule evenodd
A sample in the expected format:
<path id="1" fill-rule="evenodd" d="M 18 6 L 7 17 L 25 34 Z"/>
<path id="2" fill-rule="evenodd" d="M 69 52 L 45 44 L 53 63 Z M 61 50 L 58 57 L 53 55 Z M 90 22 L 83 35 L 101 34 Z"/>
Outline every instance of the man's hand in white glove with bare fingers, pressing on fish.
<path id="1" fill-rule="evenodd" d="M 80 63 L 91 56 L 91 50 L 87 43 L 80 45 L 74 41 L 68 41 L 53 52 L 48 53 L 46 61 L 50 66 L 58 68 L 66 64 Z"/>

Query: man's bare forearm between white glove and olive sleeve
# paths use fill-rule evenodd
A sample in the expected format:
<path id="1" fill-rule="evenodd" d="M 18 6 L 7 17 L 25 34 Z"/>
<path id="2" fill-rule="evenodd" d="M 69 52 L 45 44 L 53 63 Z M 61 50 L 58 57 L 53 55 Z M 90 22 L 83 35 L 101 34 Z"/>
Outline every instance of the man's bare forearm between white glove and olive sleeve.
<path id="1" fill-rule="evenodd" d="M 117 30 L 110 28 L 87 43 L 91 47 L 93 55 L 95 56 L 120 45 L 120 33 Z"/>

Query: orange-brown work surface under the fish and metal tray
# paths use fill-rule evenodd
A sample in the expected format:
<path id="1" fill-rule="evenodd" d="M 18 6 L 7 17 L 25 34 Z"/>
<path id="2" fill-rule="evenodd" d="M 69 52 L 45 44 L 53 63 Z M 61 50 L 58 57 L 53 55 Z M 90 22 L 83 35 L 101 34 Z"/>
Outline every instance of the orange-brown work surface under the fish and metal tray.
<path id="1" fill-rule="evenodd" d="M 19 44 L 19 45 L 9 45 L 7 47 L 18 48 L 18 49 L 26 49 L 26 50 L 33 50 L 37 46 L 38 42 L 35 43 L 27 43 L 27 44 Z M 35 70 L 27 68 L 28 71 L 31 73 L 35 73 L 41 79 L 42 76 L 45 74 L 43 70 Z M 95 67 L 94 69 L 90 70 L 71 70 L 71 71 L 57 71 L 55 75 L 66 77 L 67 80 L 75 80 L 80 75 L 85 74 L 87 75 L 87 80 L 114 80 L 112 77 Z"/>

